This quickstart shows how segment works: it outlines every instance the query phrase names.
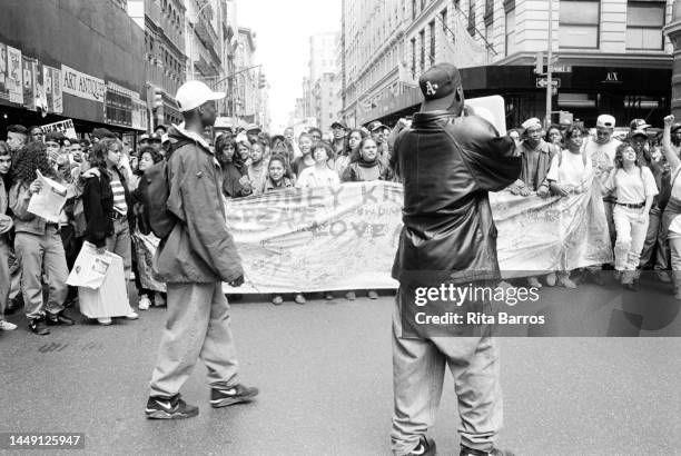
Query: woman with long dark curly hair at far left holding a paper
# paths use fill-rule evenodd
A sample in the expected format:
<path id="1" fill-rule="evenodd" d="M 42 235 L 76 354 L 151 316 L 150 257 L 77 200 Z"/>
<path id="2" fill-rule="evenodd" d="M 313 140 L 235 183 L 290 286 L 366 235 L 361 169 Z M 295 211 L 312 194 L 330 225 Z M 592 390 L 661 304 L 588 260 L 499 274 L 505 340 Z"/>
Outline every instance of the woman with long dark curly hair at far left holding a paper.
<path id="1" fill-rule="evenodd" d="M 10 208 L 14 212 L 14 251 L 21 264 L 21 293 L 29 328 L 40 336 L 50 334 L 47 325 L 73 325 L 63 313 L 69 270 L 59 224 L 28 211 L 31 197 L 42 189 L 36 170 L 53 176 L 48 163 L 47 146 L 30 142 L 14 156 Z M 42 275 L 49 286 L 47 303 L 42 296 Z"/>

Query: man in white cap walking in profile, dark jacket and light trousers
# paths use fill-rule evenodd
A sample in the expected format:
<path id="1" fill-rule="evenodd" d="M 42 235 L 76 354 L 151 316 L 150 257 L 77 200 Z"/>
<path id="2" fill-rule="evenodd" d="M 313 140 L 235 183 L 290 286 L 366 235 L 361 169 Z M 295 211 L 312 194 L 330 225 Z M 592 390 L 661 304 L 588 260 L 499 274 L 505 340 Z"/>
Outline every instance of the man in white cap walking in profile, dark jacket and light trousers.
<path id="1" fill-rule="evenodd" d="M 198 415 L 179 394 L 197 358 L 206 364 L 214 408 L 250 402 L 257 388 L 238 381 L 238 364 L 223 281 L 244 282 L 241 260 L 225 222 L 221 171 L 206 127 L 216 119 L 215 100 L 225 98 L 199 81 L 177 91 L 184 125 L 168 131 L 168 210 L 177 218 L 157 251 L 154 268 L 168 287 L 168 319 L 151 375 L 148 418 Z"/>

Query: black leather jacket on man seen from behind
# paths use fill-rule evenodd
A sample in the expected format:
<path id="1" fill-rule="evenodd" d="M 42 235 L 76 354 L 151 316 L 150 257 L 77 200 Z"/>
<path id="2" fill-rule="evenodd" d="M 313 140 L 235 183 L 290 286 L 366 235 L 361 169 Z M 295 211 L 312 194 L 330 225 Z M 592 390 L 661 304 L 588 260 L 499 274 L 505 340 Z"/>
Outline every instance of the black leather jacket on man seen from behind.
<path id="1" fill-rule="evenodd" d="M 487 192 L 520 177 L 514 150 L 513 139 L 500 137 L 480 117 L 414 116 L 397 137 L 392 159 L 404 182 L 396 280 L 408 280 L 409 271 L 455 284 L 500 278 Z"/>

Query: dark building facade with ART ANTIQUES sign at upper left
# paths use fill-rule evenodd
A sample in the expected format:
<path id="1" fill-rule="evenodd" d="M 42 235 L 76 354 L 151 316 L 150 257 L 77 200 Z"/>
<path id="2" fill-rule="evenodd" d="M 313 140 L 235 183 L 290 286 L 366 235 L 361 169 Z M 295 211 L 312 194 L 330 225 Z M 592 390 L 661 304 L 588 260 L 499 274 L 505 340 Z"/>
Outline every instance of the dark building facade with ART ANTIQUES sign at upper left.
<path id="1" fill-rule="evenodd" d="M 79 137 L 96 127 L 131 136 L 147 129 L 145 34 L 125 2 L 2 7 L 0 129 L 59 122 L 51 128 Z"/>

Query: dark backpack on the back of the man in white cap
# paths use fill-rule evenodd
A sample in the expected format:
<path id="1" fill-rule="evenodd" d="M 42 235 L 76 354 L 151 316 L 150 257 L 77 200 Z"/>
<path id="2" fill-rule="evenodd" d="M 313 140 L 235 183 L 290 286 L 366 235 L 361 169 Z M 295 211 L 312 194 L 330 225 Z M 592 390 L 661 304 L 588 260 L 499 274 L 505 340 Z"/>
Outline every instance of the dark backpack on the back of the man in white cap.
<path id="1" fill-rule="evenodd" d="M 139 230 L 142 235 L 154 232 L 157 238 L 165 239 L 179 220 L 176 215 L 168 210 L 168 197 L 170 196 L 168 160 L 175 150 L 188 143 L 194 142 L 182 139 L 171 143 L 166 159 L 147 168 L 139 180 L 138 189 L 141 199 Z"/>

